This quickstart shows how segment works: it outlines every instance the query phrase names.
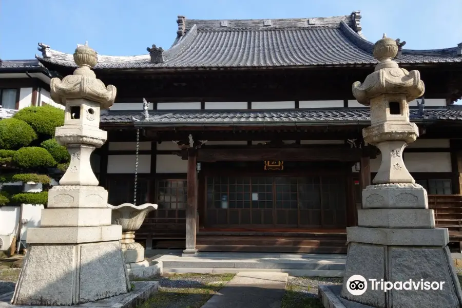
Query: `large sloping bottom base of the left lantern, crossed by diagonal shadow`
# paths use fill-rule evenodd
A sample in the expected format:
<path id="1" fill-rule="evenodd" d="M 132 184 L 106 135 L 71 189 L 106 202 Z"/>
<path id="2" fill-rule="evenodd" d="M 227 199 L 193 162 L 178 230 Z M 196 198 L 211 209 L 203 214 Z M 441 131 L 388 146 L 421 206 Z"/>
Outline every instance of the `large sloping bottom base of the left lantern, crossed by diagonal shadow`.
<path id="1" fill-rule="evenodd" d="M 30 244 L 11 303 L 75 305 L 126 294 L 129 290 L 119 241 Z"/>

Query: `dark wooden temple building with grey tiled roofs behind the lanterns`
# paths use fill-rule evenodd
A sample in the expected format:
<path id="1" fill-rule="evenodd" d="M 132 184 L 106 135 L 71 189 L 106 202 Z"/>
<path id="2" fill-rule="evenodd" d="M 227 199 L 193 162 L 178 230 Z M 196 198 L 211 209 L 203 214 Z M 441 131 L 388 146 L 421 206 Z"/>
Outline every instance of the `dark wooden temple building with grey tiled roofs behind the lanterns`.
<path id="1" fill-rule="evenodd" d="M 178 16 L 170 48 L 99 55 L 94 71 L 117 98 L 101 113 L 108 141 L 94 171 L 110 204 L 159 205 L 136 240 L 186 253 L 345 253 L 345 227 L 357 225 L 361 190 L 381 159 L 362 139 L 369 107 L 352 95 L 377 64 L 360 18 Z M 462 108 L 453 103 L 462 97 L 462 43 L 409 50 L 397 42 L 395 61 L 419 70 L 426 86 L 410 103 L 420 137 L 403 159 L 458 247 Z M 72 54 L 38 49 L 36 60 L 0 63 L 3 108 L 26 106 L 24 88 L 29 105 L 54 104 L 49 77 L 76 68 Z"/>

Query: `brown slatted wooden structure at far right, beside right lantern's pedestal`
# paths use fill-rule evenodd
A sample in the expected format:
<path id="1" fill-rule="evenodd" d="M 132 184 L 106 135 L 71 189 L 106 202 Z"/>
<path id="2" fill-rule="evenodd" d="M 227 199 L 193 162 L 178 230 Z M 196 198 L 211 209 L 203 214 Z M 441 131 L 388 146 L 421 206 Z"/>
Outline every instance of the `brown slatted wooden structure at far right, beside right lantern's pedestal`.
<path id="1" fill-rule="evenodd" d="M 448 228 L 451 251 L 462 252 L 462 196 L 429 195 L 428 207 L 435 211 L 436 226 Z"/>

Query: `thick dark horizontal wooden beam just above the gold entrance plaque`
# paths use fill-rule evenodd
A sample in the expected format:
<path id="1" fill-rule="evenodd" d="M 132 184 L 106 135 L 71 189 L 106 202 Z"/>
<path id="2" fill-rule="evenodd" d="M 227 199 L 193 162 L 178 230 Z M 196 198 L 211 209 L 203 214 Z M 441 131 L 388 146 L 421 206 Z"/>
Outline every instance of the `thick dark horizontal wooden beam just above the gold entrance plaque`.
<path id="1" fill-rule="evenodd" d="M 246 148 L 246 149 L 198 149 L 200 162 L 217 161 L 358 161 L 360 148 L 341 146 L 320 146 L 313 148 Z"/>

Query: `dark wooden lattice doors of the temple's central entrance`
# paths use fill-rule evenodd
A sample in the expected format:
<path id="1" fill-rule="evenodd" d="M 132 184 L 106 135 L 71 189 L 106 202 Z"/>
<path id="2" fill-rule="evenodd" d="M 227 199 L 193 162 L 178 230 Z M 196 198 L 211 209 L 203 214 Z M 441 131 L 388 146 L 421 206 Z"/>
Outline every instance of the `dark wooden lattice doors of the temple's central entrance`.
<path id="1" fill-rule="evenodd" d="M 205 183 L 205 227 L 347 226 L 347 186 L 341 174 L 208 176 Z"/>

